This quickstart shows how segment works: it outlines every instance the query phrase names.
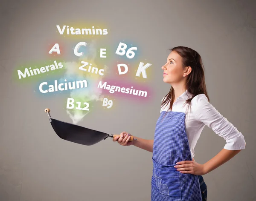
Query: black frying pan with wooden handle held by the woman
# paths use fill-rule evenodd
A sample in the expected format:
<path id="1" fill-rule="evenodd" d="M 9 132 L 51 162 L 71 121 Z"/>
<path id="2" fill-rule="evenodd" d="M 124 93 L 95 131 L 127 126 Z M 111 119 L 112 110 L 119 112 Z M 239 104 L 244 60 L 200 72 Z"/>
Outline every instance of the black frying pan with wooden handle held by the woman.
<path id="1" fill-rule="evenodd" d="M 64 121 L 53 119 L 50 115 L 50 111 L 51 110 L 48 108 L 44 110 L 44 112 L 48 114 L 49 121 L 52 125 L 53 130 L 63 140 L 89 146 L 96 144 L 99 141 L 105 140 L 108 137 L 115 138 L 116 136 L 120 136 L 113 134 L 109 135 L 105 132 L 100 132 L 93 129 L 78 126 L 72 123 L 67 123 Z M 133 138 L 133 136 L 131 135 L 131 139 L 129 141 L 133 140 L 137 139 Z"/>

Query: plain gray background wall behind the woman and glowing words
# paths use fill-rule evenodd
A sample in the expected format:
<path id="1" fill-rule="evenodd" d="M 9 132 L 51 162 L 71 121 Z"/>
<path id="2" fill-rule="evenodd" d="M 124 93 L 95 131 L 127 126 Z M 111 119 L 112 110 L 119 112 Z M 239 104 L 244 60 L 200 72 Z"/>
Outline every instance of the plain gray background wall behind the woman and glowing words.
<path id="1" fill-rule="evenodd" d="M 65 98 L 42 98 L 33 91 L 33 82 L 19 84 L 12 77 L 18 65 L 49 60 L 48 42 L 71 47 L 70 40 L 56 32 L 57 24 L 92 20 L 110 29 L 101 40 L 104 45 L 111 47 L 123 39 L 140 47 L 140 58 L 152 63 L 146 85 L 154 97 L 144 104 L 119 99 L 112 110 L 103 110 L 97 101 L 78 124 L 153 139 L 160 100 L 170 87 L 163 83 L 161 70 L 167 49 L 189 46 L 203 58 L 210 102 L 247 142 L 239 155 L 204 175 L 208 200 L 256 200 L 255 8 L 253 0 L 1 1 L 0 200 L 150 200 L 150 152 L 119 146 L 111 139 L 94 146 L 61 140 L 44 109 L 71 122 L 63 108 Z M 195 160 L 205 163 L 224 144 L 206 126 Z"/>

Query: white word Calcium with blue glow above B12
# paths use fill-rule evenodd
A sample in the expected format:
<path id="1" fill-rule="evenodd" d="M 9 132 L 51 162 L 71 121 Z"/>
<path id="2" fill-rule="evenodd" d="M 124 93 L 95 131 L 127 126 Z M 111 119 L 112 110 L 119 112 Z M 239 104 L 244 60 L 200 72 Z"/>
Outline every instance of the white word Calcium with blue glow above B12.
<path id="1" fill-rule="evenodd" d="M 59 83 L 57 82 L 57 80 L 54 80 L 54 85 L 50 84 L 49 86 L 47 86 L 46 90 L 43 90 L 43 86 L 47 85 L 47 82 L 42 82 L 39 85 L 39 91 L 41 93 L 47 93 L 47 92 L 57 92 L 58 90 L 60 91 L 64 91 L 64 90 L 69 90 L 69 89 L 79 89 L 79 88 L 84 88 L 87 87 L 87 81 L 86 80 L 79 80 L 79 81 L 73 81 L 73 82 L 68 82 L 65 79 L 64 80 L 66 83 Z"/>

